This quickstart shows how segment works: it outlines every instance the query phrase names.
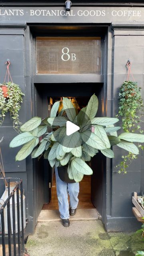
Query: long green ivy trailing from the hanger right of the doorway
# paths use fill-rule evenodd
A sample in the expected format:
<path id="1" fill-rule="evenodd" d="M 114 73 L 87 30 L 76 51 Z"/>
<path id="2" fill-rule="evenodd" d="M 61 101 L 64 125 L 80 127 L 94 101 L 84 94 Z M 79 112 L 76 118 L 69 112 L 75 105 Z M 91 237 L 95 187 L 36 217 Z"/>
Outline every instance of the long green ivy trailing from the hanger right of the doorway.
<path id="1" fill-rule="evenodd" d="M 144 104 L 140 93 L 140 87 L 137 82 L 125 81 L 119 92 L 119 111 L 116 117 L 122 117 L 122 128 L 125 132 L 138 131 L 140 134 L 143 130 L 140 126 L 140 121 L 144 112 Z M 143 150 L 141 144 L 138 145 Z M 119 168 L 119 173 L 127 173 L 126 169 L 137 156 L 132 152 L 122 156 L 122 161 L 116 166 Z"/>

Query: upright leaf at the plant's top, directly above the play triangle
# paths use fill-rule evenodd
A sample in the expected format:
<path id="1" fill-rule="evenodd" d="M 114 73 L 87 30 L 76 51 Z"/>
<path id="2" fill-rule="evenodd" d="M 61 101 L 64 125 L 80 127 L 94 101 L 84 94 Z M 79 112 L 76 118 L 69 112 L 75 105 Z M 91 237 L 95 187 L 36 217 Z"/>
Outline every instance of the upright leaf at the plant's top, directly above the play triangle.
<path id="1" fill-rule="evenodd" d="M 68 116 L 68 119 L 73 121 L 76 117 L 76 109 L 74 108 L 72 102 L 68 98 L 63 97 L 62 103 L 64 110 L 66 111 L 66 114 Z"/>

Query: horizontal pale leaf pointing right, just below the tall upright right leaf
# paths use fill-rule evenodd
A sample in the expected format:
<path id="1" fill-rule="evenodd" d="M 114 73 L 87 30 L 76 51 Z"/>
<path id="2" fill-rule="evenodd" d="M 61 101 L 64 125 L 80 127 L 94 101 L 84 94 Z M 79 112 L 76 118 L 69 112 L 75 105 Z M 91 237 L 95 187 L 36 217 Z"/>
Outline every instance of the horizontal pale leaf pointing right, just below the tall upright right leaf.
<path id="1" fill-rule="evenodd" d="M 91 120 L 92 124 L 100 124 L 103 126 L 115 124 L 118 121 L 119 121 L 118 118 L 113 118 L 113 117 L 95 117 Z"/>

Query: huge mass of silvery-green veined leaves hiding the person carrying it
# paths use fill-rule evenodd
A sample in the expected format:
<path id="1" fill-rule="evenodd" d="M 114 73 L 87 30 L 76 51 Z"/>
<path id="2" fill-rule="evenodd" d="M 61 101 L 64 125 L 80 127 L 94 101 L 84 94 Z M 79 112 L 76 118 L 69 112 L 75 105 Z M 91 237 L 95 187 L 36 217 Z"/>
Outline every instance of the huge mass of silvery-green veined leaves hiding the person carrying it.
<path id="1" fill-rule="evenodd" d="M 16 155 L 16 161 L 23 160 L 30 154 L 32 158 L 36 158 L 44 152 L 44 158 L 48 159 L 51 167 L 68 164 L 69 178 L 79 182 L 84 174 L 92 174 L 92 169 L 86 162 L 98 150 L 109 158 L 114 158 L 111 148 L 114 145 L 132 154 L 139 154 L 139 149 L 133 142 L 144 142 L 144 135 L 123 132 L 118 136 L 116 131 L 121 127 L 114 126 L 119 121 L 118 118 L 95 117 L 98 110 L 96 95 L 92 95 L 88 105 L 78 115 L 68 98 L 63 98 L 63 109 L 57 115 L 59 104 L 60 102 L 54 103 L 50 117 L 41 120 L 35 116 L 20 127 L 22 133 L 10 142 L 12 148 L 24 144 Z M 62 116 L 63 111 L 65 116 Z M 80 130 L 67 136 L 67 121 L 78 125 Z M 48 133 L 48 126 L 55 127 L 54 131 Z M 39 143 L 40 136 L 43 138 Z M 38 144 L 40 145 L 37 147 Z"/>

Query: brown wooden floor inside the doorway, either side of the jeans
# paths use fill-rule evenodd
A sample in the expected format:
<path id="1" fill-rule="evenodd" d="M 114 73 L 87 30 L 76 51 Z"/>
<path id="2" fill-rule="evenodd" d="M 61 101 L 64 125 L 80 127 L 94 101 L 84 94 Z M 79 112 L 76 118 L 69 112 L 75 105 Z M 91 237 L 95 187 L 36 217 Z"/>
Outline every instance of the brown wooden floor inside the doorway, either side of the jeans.
<path id="1" fill-rule="evenodd" d="M 91 176 L 84 175 L 80 182 L 80 192 L 78 195 L 78 209 L 92 209 L 95 208 L 91 202 Z M 56 178 L 54 174 L 52 184 L 52 199 L 49 204 L 44 204 L 42 210 L 58 210 L 58 199 L 56 195 Z"/>

